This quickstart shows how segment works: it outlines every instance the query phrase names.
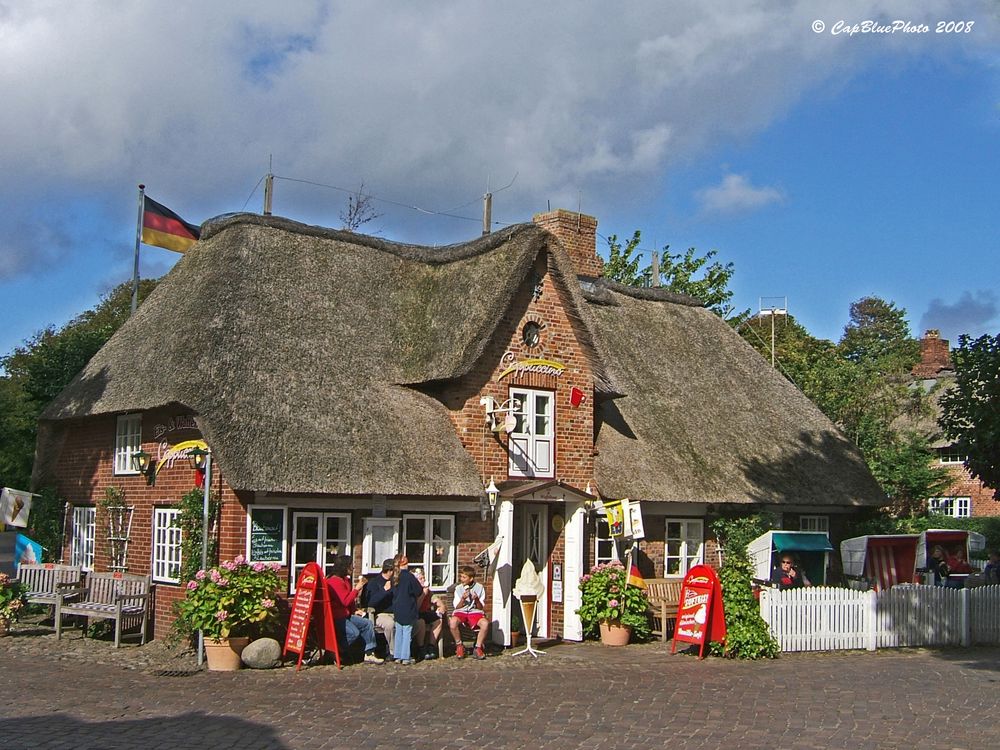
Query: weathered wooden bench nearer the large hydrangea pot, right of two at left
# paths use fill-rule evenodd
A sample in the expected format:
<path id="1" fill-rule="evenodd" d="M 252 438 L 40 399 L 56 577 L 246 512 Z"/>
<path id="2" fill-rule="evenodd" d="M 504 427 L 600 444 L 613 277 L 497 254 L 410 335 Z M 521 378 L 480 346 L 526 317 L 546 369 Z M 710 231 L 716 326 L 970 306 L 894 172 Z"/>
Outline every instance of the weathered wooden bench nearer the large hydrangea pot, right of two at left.
<path id="1" fill-rule="evenodd" d="M 63 585 L 56 598 L 56 638 L 62 637 L 63 615 L 97 617 L 115 621 L 115 648 L 121 643 L 126 619 L 140 621 L 141 643 L 146 642 L 149 576 L 128 573 L 87 573 L 81 586 Z M 84 637 L 87 635 L 84 629 Z"/>

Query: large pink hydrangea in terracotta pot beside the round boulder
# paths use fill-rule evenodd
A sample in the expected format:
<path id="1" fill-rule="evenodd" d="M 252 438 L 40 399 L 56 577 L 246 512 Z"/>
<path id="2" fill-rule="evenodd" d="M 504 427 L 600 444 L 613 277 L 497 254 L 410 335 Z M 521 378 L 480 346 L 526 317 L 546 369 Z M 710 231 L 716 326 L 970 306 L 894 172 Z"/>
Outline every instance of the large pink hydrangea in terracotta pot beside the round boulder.
<path id="1" fill-rule="evenodd" d="M 174 631 L 179 636 L 205 634 L 211 670 L 239 669 L 250 639 L 277 622 L 280 585 L 277 563 L 248 563 L 240 555 L 188 581 L 176 605 Z"/>

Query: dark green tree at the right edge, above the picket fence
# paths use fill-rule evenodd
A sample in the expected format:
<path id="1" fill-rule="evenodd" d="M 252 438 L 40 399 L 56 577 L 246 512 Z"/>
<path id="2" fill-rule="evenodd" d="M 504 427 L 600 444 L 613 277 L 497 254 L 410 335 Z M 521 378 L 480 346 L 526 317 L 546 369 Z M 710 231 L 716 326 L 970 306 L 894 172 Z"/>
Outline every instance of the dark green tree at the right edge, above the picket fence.
<path id="1" fill-rule="evenodd" d="M 1000 500 L 1000 335 L 960 336 L 952 361 L 955 385 L 941 397 L 941 427 Z"/>

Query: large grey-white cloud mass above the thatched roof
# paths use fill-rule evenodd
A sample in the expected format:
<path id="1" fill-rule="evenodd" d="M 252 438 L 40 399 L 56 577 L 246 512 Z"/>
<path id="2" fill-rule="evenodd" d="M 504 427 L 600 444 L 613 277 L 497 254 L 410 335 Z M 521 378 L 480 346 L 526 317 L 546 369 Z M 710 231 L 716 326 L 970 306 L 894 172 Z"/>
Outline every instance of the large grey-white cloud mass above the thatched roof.
<path id="1" fill-rule="evenodd" d="M 665 170 L 720 139 L 760 131 L 817 86 L 844 85 L 885 57 L 945 54 L 934 51 L 942 40 L 811 30 L 840 7 L 216 0 L 164 12 L 154 0 L 0 0 L 0 202 L 85 194 L 119 219 L 145 182 L 200 220 L 240 210 L 273 155 L 277 174 L 363 180 L 428 208 L 516 173 L 494 205 L 502 220 L 546 199 L 576 205 L 581 193 L 610 207 L 655 191 Z M 930 11 L 918 7 L 861 0 L 851 13 L 919 20 Z M 979 7 L 952 0 L 933 13 Z M 960 40 L 963 54 L 995 41 L 985 20 L 976 32 Z M 775 199 L 721 188 L 713 200 Z M 277 213 L 331 224 L 341 204 L 286 183 L 275 196 Z M 392 234 L 416 219 L 385 221 Z M 11 229 L 0 216 L 0 232 Z M 417 229 L 408 238 L 455 238 Z"/>

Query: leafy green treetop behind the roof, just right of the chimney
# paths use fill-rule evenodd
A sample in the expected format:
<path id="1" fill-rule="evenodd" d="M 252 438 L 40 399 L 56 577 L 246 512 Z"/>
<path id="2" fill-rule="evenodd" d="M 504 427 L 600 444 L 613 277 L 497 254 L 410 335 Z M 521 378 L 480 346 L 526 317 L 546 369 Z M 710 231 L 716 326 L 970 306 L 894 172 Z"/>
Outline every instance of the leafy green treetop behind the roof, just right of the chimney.
<path id="1" fill-rule="evenodd" d="M 604 277 L 626 286 L 650 286 L 653 267 L 650 264 L 642 268 L 641 241 L 642 233 L 638 229 L 624 244 L 617 235 L 608 237 Z M 733 291 L 729 288 L 735 273 L 732 263 L 713 261 L 717 255 L 715 250 L 709 250 L 704 255 L 698 255 L 693 247 L 684 253 L 672 254 L 669 250 L 670 245 L 664 245 L 659 251 L 659 282 L 662 288 L 694 297 L 730 322 L 746 316 L 746 312 L 735 314 L 732 306 Z"/>

